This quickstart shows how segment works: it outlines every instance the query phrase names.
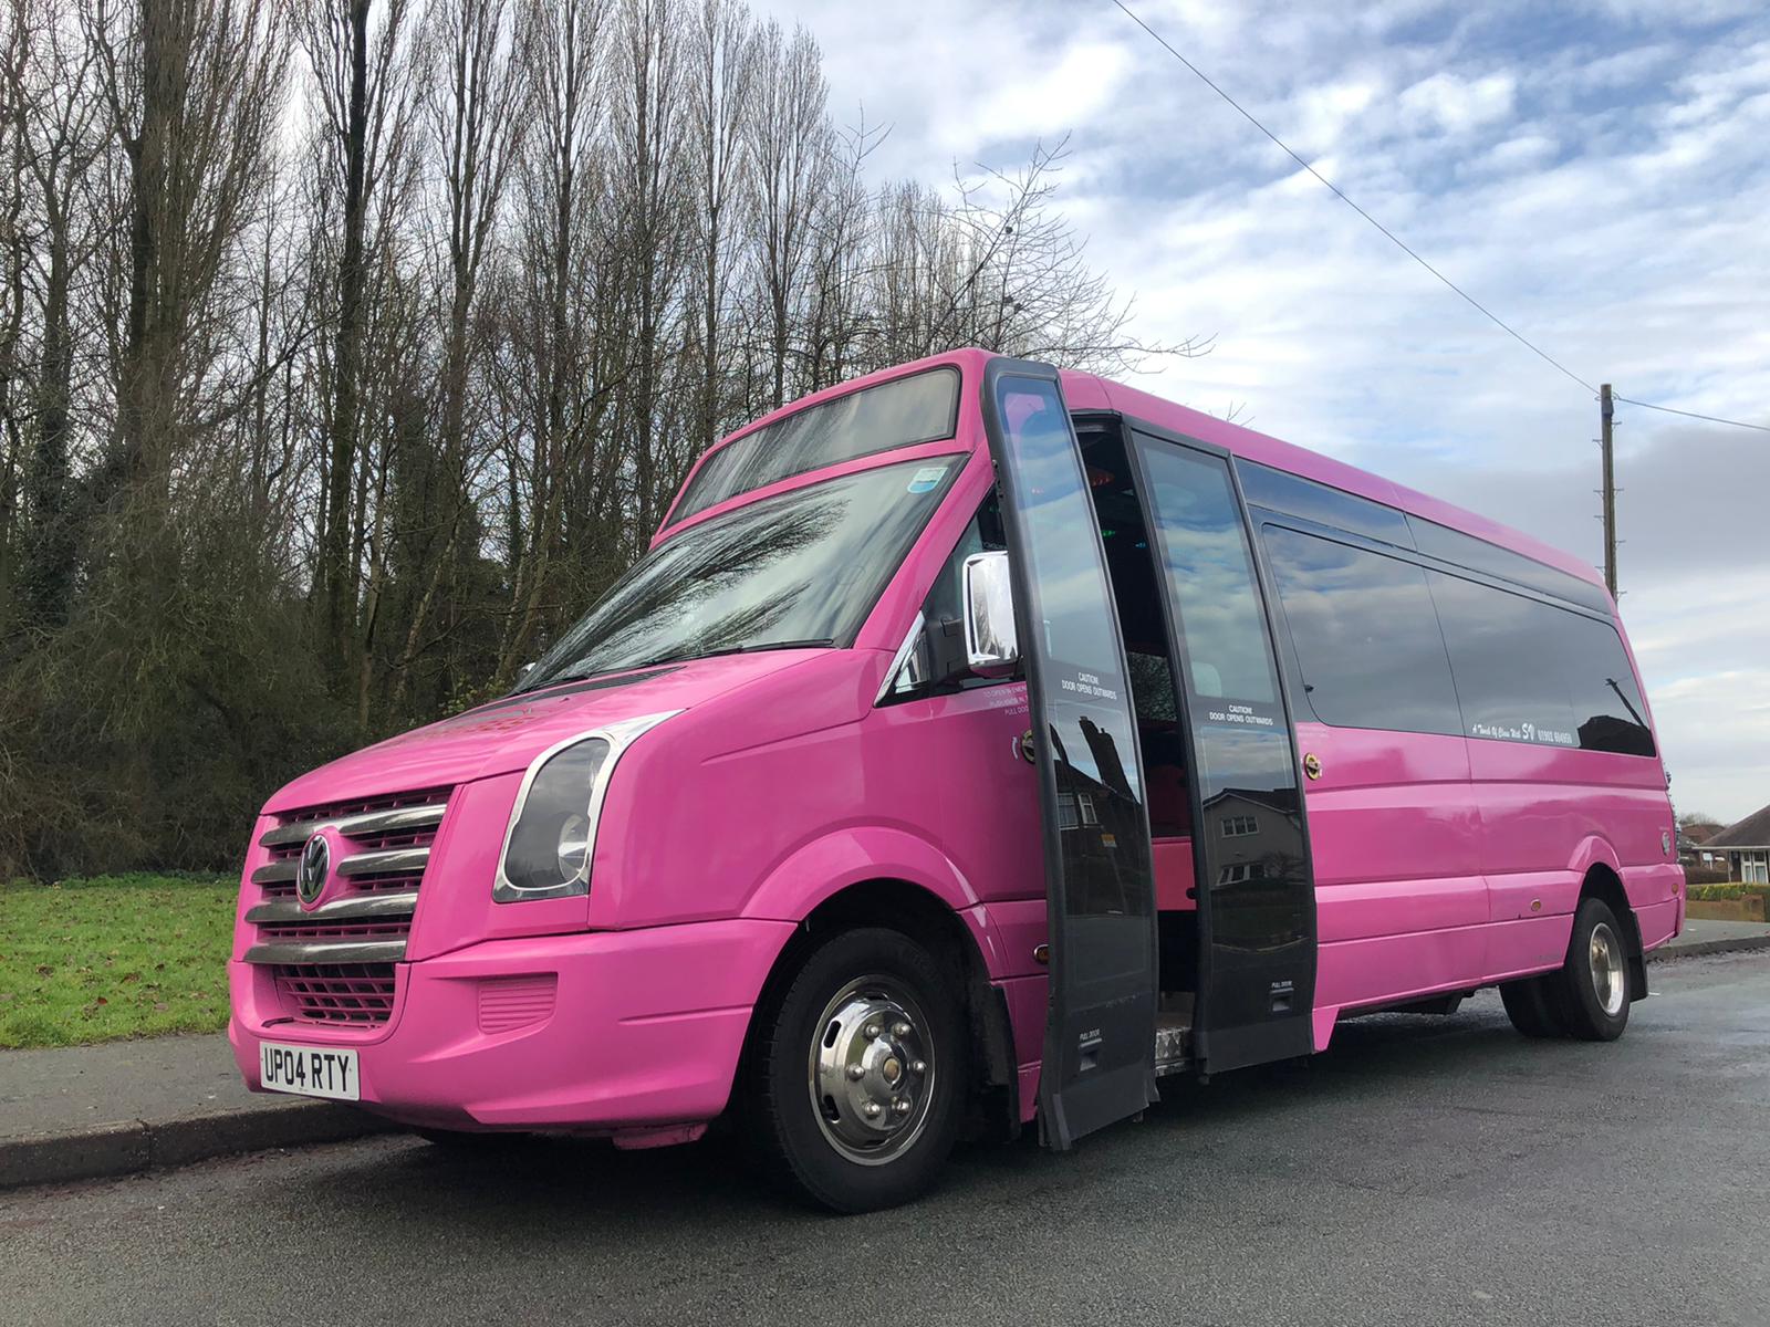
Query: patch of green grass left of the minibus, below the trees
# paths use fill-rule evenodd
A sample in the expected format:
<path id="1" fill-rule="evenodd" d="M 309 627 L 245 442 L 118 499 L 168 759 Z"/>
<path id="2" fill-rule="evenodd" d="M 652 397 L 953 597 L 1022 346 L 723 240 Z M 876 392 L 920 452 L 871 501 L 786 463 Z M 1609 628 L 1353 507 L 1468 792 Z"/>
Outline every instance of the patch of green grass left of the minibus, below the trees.
<path id="1" fill-rule="evenodd" d="M 227 1026 L 232 876 L 0 883 L 0 1046 Z"/>

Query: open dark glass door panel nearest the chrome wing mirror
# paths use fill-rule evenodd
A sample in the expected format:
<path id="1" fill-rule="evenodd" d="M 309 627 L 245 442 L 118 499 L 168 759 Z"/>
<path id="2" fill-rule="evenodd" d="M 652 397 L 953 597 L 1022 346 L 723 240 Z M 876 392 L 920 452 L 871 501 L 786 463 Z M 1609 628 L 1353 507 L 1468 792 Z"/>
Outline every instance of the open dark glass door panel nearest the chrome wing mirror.
<path id="1" fill-rule="evenodd" d="M 995 359 L 984 423 L 1002 485 L 1014 621 L 1044 819 L 1048 1147 L 1156 1101 L 1156 886 L 1119 614 L 1057 370 Z"/>

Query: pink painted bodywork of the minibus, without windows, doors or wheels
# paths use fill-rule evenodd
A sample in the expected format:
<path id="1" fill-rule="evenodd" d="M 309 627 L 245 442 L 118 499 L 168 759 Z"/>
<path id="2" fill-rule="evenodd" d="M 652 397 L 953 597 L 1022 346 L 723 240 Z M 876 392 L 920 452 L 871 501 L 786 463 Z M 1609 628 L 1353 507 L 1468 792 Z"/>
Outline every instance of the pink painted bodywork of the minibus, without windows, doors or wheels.
<path id="1" fill-rule="evenodd" d="M 1051 895 L 1039 771 L 1018 756 L 1032 725 L 1027 681 L 883 702 L 931 586 L 997 485 L 979 405 L 989 361 L 940 356 L 758 421 L 703 456 L 685 492 L 735 439 L 793 412 L 931 366 L 959 375 L 950 435 L 673 513 L 653 538 L 653 550 L 667 548 L 752 502 L 920 462 L 942 476 L 938 506 L 901 563 L 881 568 L 889 579 L 851 644 L 542 685 L 271 796 L 246 855 L 228 964 L 246 1083 L 264 1090 L 281 1056 L 281 1090 L 359 1101 L 428 1131 L 689 1141 L 745 1090 L 758 1009 L 805 957 L 795 938 L 903 925 L 943 936 L 963 970 L 975 1040 L 949 1081 L 988 1095 L 984 1115 L 1002 1129 L 1032 1122 L 1048 1056 Z M 1237 465 L 1522 554 L 1602 596 L 1577 559 L 1331 458 L 1099 377 L 1066 372 L 1060 389 L 1078 419 L 1122 418 L 1209 444 Z M 604 770 L 586 892 L 494 897 L 540 757 L 641 717 L 664 718 Z M 1306 715 L 1294 733 L 1313 871 L 1310 1049 L 1326 1049 L 1352 1012 L 1559 970 L 1586 897 L 1621 924 L 1630 993 L 1646 994 L 1641 955 L 1683 922 L 1657 756 Z M 324 860 L 297 901 L 310 855 Z M 1189 840 L 1158 833 L 1152 862 L 1156 908 L 1197 908 Z M 320 1051 L 352 1055 L 312 1058 L 312 1081 L 289 1081 L 303 1055 Z M 816 1196 L 864 1207 L 906 1193 Z"/>

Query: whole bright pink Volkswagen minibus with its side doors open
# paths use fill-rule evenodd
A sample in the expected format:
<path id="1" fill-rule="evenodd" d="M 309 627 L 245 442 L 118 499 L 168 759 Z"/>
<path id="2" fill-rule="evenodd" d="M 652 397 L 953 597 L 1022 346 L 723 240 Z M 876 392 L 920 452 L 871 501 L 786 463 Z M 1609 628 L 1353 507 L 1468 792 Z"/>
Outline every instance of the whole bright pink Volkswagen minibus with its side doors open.
<path id="1" fill-rule="evenodd" d="M 1614 1039 L 1682 924 L 1589 566 L 963 350 L 724 439 L 515 692 L 278 791 L 230 1037 L 441 1143 L 729 1116 L 853 1212 L 1370 1010 Z"/>

